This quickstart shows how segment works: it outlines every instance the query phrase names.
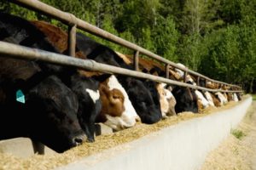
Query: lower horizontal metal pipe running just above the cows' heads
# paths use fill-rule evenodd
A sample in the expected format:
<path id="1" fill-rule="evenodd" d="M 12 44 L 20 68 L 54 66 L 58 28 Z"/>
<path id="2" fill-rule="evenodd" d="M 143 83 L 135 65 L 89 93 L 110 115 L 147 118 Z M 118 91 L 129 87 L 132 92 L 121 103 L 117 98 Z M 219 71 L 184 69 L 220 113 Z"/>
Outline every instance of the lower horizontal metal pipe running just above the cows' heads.
<path id="1" fill-rule="evenodd" d="M 63 54 L 50 53 L 48 51 L 40 50 L 37 48 L 27 48 L 20 45 L 16 45 L 9 42 L 0 41 L 0 57 L 14 57 L 18 59 L 29 59 L 29 60 L 42 60 L 58 65 L 69 65 L 80 69 L 90 71 L 102 71 L 107 73 L 121 74 L 131 77 L 145 78 L 154 82 L 166 82 L 167 84 L 173 84 L 186 88 L 195 88 L 200 90 L 206 90 L 211 92 L 242 92 L 242 91 L 230 91 L 220 89 L 201 88 L 199 86 L 190 85 L 184 82 L 176 82 L 164 77 L 156 77 L 146 73 L 131 71 L 112 65 L 105 65 L 97 63 L 91 59 L 77 59 Z"/>

